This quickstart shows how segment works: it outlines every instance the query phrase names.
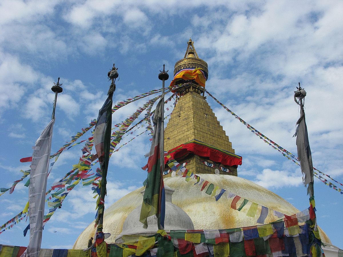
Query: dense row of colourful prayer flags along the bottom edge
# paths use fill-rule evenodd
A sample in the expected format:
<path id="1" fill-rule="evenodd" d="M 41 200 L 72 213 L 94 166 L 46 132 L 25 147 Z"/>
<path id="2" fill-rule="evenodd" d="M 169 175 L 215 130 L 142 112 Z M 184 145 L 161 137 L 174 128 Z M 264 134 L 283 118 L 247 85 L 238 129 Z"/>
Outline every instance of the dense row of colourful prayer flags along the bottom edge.
<path id="1" fill-rule="evenodd" d="M 111 244 L 109 256 L 322 256 L 321 240 L 307 223 L 295 225 L 291 231 L 284 221 L 222 230 L 159 230 L 155 235 L 123 235 L 122 243 Z M 103 243 L 103 241 L 101 241 Z M 100 243 L 97 246 L 102 246 Z M 0 245 L 0 256 L 8 255 L 18 247 Z M 44 251 L 45 249 L 43 249 Z M 97 247 L 97 255 L 105 254 L 105 247 Z M 84 255 L 82 250 L 49 249 L 68 256 Z M 79 252 L 78 252 L 79 251 Z M 81 252 L 82 251 L 82 252 Z M 47 253 L 46 251 L 43 253 Z M 94 252 L 95 253 L 95 252 Z M 83 256 L 82 255 L 82 256 Z M 105 254 L 106 255 L 106 254 Z M 13 256 L 13 254 L 12 254 Z"/>

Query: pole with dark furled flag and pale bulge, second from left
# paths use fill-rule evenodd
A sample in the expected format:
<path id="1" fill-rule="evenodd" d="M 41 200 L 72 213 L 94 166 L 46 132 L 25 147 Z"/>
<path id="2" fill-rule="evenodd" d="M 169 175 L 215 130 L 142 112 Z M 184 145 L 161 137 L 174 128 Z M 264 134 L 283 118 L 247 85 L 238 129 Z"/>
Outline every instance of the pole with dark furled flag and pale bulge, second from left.
<path id="1" fill-rule="evenodd" d="M 103 218 L 105 209 L 105 195 L 106 195 L 106 176 L 109 161 L 109 150 L 111 144 L 111 129 L 112 129 L 112 97 L 116 90 L 115 80 L 119 76 L 115 64 L 113 64 L 112 70 L 107 74 L 108 78 L 112 80 L 110 88 L 108 90 L 108 97 L 99 110 L 99 116 L 94 130 L 94 145 L 96 150 L 96 157 L 100 162 L 100 169 L 102 171 L 102 180 L 100 182 L 100 201 L 98 203 L 98 213 L 96 223 L 98 224 L 98 232 L 102 233 L 103 230 Z"/>

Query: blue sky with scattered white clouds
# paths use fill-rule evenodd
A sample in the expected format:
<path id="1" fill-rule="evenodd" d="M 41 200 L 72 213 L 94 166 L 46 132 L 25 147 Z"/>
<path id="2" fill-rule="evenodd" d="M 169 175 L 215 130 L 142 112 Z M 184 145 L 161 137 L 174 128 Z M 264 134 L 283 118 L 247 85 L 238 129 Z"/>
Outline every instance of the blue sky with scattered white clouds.
<path id="1" fill-rule="evenodd" d="M 119 73 L 114 94 L 118 102 L 161 88 L 157 76 L 163 64 L 170 83 L 190 37 L 209 66 L 206 89 L 293 154 L 300 112 L 293 95 L 300 82 L 307 92 L 314 167 L 343 183 L 342 1 L 2 0 L 0 13 L 0 187 L 10 187 L 22 176 L 20 170 L 29 168 L 19 160 L 32 155 L 32 146 L 51 119 L 50 88 L 58 77 L 63 93 L 58 95 L 51 153 L 97 118 L 113 63 Z M 148 99 L 115 112 L 113 124 Z M 307 208 L 298 166 L 210 97 L 207 100 L 236 154 L 243 156 L 238 176 L 270 189 L 299 210 Z M 144 130 L 137 129 L 119 145 Z M 87 136 L 90 132 L 79 140 Z M 81 148 L 82 144 L 61 154 L 48 187 L 78 163 Z M 142 186 L 146 172 L 141 167 L 149 149 L 149 135 L 144 133 L 113 154 L 105 206 Z M 28 198 L 25 182 L 12 194 L 0 196 L 1 224 L 23 210 Z M 343 195 L 316 178 L 314 186 L 318 224 L 342 249 Z M 45 226 L 43 248 L 72 247 L 94 220 L 92 197 L 91 186 L 81 184 L 69 193 Z M 26 246 L 27 224 L 23 220 L 0 234 L 0 244 Z"/>

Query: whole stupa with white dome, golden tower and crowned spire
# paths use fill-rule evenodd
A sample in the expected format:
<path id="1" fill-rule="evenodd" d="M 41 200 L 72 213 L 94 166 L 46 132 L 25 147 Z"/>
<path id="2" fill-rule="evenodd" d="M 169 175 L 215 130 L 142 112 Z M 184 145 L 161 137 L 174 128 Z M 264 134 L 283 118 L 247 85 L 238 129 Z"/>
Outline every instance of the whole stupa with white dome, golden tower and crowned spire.
<path id="1" fill-rule="evenodd" d="M 202 76 L 198 79 L 187 79 L 186 75 L 180 75 L 180 71 L 187 69 L 197 69 Z M 198 57 L 193 41 L 190 39 L 185 57 L 175 64 L 172 83 L 184 86 L 177 89 L 179 99 L 165 129 L 165 151 L 173 152 L 175 159 L 192 173 L 199 174 L 202 179 L 225 188 L 227 192 L 239 195 L 242 199 L 248 199 L 286 215 L 299 212 L 280 196 L 238 176 L 237 167 L 241 164 L 242 158 L 235 154 L 229 137 L 204 97 L 203 78 L 207 79 L 207 77 L 208 65 Z M 217 156 L 223 153 L 227 158 L 213 157 L 212 149 L 219 153 Z M 175 227 L 178 229 L 180 224 L 184 224 L 183 229 L 192 229 L 193 225 L 195 230 L 218 230 L 257 225 L 258 214 L 256 217 L 249 217 L 246 213 L 230 208 L 232 199 L 228 197 L 221 197 L 215 201 L 210 195 L 200 192 L 199 187 L 194 186 L 194 180 L 185 181 L 185 178 L 175 174 L 167 165 L 164 170 L 164 184 L 166 188 L 169 187 L 167 191 L 170 191 L 170 203 L 166 205 L 166 230 L 175 229 Z M 103 231 L 111 233 L 111 236 L 105 240 L 106 242 L 118 242 L 123 233 L 142 235 L 151 233 L 143 229 L 143 224 L 138 218 L 134 218 L 139 217 L 137 212 L 142 204 L 141 192 L 143 190 L 144 187 L 138 188 L 106 209 Z M 166 198 L 169 199 L 169 196 Z M 257 213 L 260 213 L 261 206 L 258 207 Z M 178 219 L 178 223 L 173 225 L 167 222 L 170 217 Z M 269 213 L 264 223 L 276 219 L 272 213 Z M 156 220 L 150 219 L 148 222 L 149 226 L 153 227 Z M 88 239 L 94 236 L 95 230 L 94 222 L 92 222 L 77 238 L 73 248 L 86 248 Z M 155 233 L 156 230 L 157 226 Z M 322 242 L 331 244 L 330 239 L 321 229 L 319 232 Z"/>

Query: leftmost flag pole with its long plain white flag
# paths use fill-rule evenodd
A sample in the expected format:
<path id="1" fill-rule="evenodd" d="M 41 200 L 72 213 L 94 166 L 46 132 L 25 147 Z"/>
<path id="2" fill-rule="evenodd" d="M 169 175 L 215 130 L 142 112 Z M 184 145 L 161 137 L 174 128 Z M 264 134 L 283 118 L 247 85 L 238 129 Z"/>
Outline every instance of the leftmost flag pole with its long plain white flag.
<path id="1" fill-rule="evenodd" d="M 57 94 L 63 91 L 62 84 L 59 82 L 60 78 L 58 78 L 57 83 L 54 83 L 54 86 L 51 88 L 55 92 L 51 121 L 43 130 L 33 147 L 28 194 L 30 239 L 27 249 L 22 256 L 37 257 L 40 251 L 40 245 L 42 244 L 45 192 L 48 179 L 52 130 L 55 123 Z"/>

